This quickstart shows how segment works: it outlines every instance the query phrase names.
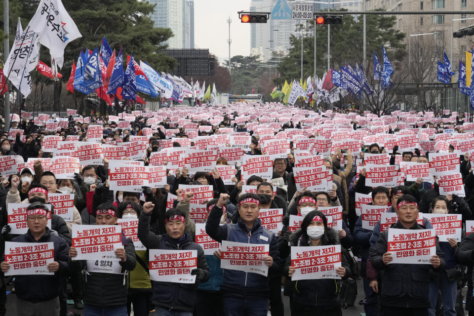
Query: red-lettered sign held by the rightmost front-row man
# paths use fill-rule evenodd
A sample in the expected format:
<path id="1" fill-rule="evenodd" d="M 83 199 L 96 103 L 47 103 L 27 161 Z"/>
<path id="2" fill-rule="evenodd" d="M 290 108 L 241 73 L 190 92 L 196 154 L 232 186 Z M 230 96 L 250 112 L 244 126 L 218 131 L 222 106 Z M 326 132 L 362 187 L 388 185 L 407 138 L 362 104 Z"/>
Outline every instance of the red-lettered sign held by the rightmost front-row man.
<path id="1" fill-rule="evenodd" d="M 389 264 L 430 264 L 436 254 L 436 234 L 434 229 L 389 228 L 387 252 L 394 258 Z"/>

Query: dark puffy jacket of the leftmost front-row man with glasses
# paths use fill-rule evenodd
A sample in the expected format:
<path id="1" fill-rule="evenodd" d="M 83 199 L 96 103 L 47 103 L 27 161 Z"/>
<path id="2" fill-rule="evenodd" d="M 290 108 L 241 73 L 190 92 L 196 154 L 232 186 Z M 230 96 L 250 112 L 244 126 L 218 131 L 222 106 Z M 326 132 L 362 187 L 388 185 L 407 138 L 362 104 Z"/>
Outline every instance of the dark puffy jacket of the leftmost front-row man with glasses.
<path id="1" fill-rule="evenodd" d="M 69 246 L 62 237 L 50 234 L 49 228 L 39 240 L 31 235 L 30 230 L 26 234 L 12 239 L 14 242 L 54 242 L 54 261 L 58 262 L 59 270 L 51 276 L 29 275 L 15 277 L 16 296 L 30 302 L 42 302 L 52 300 L 59 295 L 60 278 L 67 276 L 69 269 Z"/>

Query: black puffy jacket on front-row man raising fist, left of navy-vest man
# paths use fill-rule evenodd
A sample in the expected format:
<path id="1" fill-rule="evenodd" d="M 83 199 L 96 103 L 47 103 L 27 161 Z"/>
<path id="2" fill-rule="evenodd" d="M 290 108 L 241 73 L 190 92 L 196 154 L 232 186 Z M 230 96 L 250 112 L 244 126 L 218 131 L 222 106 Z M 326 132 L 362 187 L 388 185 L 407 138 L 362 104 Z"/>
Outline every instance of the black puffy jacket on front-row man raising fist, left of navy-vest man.
<path id="1" fill-rule="evenodd" d="M 168 234 L 155 235 L 150 231 L 150 217 L 150 213 L 145 212 L 141 212 L 139 217 L 137 235 L 143 245 L 149 249 L 197 250 L 197 268 L 202 269 L 205 274 L 200 281 L 207 281 L 209 279 L 209 267 L 202 247 L 193 242 L 191 235 L 187 233 L 185 233 L 185 239 L 179 244 L 176 244 Z M 152 302 L 167 309 L 193 312 L 196 304 L 197 285 L 197 280 L 196 283 L 157 282 L 152 280 Z"/>

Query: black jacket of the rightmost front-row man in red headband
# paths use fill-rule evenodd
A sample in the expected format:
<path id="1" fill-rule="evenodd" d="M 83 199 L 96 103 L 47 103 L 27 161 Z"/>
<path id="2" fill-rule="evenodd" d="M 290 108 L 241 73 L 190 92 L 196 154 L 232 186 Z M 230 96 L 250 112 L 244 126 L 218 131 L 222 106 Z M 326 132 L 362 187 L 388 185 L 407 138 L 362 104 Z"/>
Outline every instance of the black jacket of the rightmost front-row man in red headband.
<path id="1" fill-rule="evenodd" d="M 405 229 L 400 222 L 391 228 Z M 415 223 L 410 229 L 426 229 Z M 389 264 L 385 265 L 382 256 L 387 252 L 389 231 L 382 232 L 374 246 L 370 247 L 370 263 L 379 272 L 382 286 L 379 288 L 381 306 L 428 308 L 430 307 L 430 270 L 444 269 L 446 262 L 436 237 L 436 255 L 441 262 L 434 269 L 431 264 Z"/>

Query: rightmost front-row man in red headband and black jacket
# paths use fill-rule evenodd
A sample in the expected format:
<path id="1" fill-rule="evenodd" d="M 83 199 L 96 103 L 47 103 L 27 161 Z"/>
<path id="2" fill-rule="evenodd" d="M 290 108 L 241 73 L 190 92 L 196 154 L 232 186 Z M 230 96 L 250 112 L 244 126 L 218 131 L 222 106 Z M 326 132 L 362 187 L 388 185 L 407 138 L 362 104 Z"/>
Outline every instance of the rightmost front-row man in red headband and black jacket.
<path id="1" fill-rule="evenodd" d="M 391 226 L 396 229 L 426 229 L 416 222 L 417 200 L 411 195 L 398 198 L 398 221 Z M 430 269 L 444 269 L 444 254 L 436 238 L 436 254 L 429 264 L 390 264 L 391 252 L 387 252 L 388 231 L 382 232 L 374 246 L 370 248 L 372 266 L 381 274 L 382 287 L 379 289 L 382 316 L 417 315 L 428 316 L 430 307 Z M 390 265 L 389 265 L 390 264 Z"/>

